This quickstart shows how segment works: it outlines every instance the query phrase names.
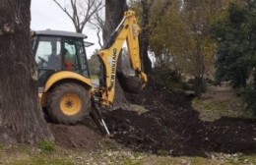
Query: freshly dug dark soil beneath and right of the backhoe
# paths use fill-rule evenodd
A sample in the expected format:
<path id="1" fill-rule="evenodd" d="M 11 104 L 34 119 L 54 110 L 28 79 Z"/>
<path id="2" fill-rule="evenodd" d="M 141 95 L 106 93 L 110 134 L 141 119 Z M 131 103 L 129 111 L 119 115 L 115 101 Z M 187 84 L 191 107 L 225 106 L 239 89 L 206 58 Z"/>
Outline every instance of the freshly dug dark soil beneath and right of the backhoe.
<path id="1" fill-rule="evenodd" d="M 221 118 L 204 122 L 191 107 L 191 97 L 168 91 L 151 81 L 140 94 L 128 94 L 133 104 L 144 106 L 142 114 L 129 109 L 107 111 L 110 138 L 139 152 L 173 156 L 205 156 L 209 152 L 256 153 L 256 121 Z M 56 144 L 68 148 L 95 149 L 104 138 L 88 118 L 74 126 L 49 124 Z"/>

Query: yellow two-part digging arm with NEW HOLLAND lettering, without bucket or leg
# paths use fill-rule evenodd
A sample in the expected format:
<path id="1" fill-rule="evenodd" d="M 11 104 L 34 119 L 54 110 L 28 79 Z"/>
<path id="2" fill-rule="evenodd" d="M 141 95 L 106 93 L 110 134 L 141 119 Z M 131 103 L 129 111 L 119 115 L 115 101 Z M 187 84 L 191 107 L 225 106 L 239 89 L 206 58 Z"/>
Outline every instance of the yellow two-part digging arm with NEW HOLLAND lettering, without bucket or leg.
<path id="1" fill-rule="evenodd" d="M 135 12 L 128 10 L 125 12 L 124 18 L 119 26 L 116 27 L 108 44 L 98 52 L 101 67 L 103 67 L 103 71 L 101 71 L 103 78 L 100 86 L 101 106 L 109 107 L 113 103 L 117 62 L 124 41 L 127 42 L 131 68 L 135 71 L 136 77 L 140 78 L 141 87 L 143 88 L 148 82 L 146 74 L 142 71 L 139 32 L 140 27 L 137 24 Z"/>

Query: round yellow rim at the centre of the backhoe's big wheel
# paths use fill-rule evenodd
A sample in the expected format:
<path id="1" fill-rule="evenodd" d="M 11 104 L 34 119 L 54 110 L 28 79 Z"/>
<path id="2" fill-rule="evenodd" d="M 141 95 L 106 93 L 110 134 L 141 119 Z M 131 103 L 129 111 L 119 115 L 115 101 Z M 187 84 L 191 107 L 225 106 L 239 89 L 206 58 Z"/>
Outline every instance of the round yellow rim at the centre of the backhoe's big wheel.
<path id="1" fill-rule="evenodd" d="M 77 94 L 64 94 L 60 99 L 60 110 L 68 116 L 77 114 L 82 108 L 82 100 Z"/>

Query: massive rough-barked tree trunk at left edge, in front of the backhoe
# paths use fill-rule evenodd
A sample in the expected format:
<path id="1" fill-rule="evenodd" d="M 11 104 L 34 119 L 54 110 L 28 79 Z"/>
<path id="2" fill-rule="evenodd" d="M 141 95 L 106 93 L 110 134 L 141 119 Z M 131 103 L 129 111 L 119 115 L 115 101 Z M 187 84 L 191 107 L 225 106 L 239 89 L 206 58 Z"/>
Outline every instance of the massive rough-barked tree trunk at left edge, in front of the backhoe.
<path id="1" fill-rule="evenodd" d="M 0 141 L 52 140 L 32 78 L 31 0 L 0 0 Z"/>

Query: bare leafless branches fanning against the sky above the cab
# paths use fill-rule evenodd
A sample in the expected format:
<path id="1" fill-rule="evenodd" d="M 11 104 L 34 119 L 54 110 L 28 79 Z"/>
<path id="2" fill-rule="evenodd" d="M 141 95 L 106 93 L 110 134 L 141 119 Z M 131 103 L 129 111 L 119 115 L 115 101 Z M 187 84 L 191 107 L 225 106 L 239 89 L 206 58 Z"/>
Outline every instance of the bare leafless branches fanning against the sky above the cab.
<path id="1" fill-rule="evenodd" d="M 79 33 L 83 32 L 87 23 L 104 7 L 103 0 L 53 0 L 53 2 L 71 19 Z"/>

